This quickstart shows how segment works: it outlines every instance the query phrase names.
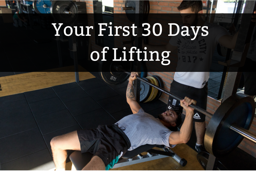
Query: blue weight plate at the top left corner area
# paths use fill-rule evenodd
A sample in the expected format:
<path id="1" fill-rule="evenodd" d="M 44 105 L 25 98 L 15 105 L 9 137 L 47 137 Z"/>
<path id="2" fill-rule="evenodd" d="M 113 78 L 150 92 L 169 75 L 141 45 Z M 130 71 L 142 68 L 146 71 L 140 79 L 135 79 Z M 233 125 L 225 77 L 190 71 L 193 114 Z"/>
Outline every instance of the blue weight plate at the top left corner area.
<path id="1" fill-rule="evenodd" d="M 42 16 L 51 15 L 51 5 L 52 1 L 50 0 L 36 0 L 33 1 L 33 8 L 36 13 L 44 14 Z"/>

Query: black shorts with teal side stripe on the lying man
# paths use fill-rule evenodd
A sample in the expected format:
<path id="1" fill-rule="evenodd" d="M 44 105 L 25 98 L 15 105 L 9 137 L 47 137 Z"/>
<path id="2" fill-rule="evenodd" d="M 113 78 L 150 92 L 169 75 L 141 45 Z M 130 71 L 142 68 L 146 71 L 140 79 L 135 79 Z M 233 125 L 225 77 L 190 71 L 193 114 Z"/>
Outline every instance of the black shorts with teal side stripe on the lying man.
<path id="1" fill-rule="evenodd" d="M 111 169 L 131 147 L 129 138 L 116 125 L 99 125 L 96 129 L 77 130 L 81 152 L 91 152 Z"/>

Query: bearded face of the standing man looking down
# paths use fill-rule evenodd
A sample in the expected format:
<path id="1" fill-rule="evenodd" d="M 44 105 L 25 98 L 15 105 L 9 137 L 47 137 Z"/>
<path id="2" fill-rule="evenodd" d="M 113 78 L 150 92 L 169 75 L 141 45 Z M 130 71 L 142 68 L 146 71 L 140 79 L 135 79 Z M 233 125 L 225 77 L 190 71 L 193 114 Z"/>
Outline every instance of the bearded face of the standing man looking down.
<path id="1" fill-rule="evenodd" d="M 191 26 L 196 26 L 198 22 L 198 15 L 195 12 L 192 12 L 191 8 L 181 10 L 180 16 L 184 26 L 187 26 L 188 29 L 191 29 Z"/>

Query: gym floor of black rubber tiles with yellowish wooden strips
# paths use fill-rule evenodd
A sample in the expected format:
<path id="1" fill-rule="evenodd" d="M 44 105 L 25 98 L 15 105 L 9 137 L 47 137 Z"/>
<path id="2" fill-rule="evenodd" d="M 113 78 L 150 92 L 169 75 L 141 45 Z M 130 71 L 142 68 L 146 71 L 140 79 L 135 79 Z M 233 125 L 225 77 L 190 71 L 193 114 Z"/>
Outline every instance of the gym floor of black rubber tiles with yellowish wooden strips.
<path id="1" fill-rule="evenodd" d="M 0 91 L 1 170 L 54 169 L 52 137 L 77 129 L 97 128 L 100 124 L 114 124 L 132 114 L 125 99 L 128 82 L 109 86 L 97 72 L 79 74 L 82 80 L 79 83 L 74 80 L 74 72 L 32 72 L 0 77 L 3 90 L 7 89 L 8 82 L 13 85 L 7 91 Z M 28 82 L 29 78 L 33 81 Z M 19 84 L 13 84 L 15 80 Z M 25 88 L 19 90 L 19 86 Z M 15 93 L 11 95 L 11 92 Z M 155 117 L 166 109 L 166 104 L 160 100 L 140 105 Z M 185 115 L 182 117 L 184 119 Z M 195 143 L 193 129 L 187 144 L 173 148 L 181 158 L 188 160 L 185 167 L 167 157 L 115 170 L 202 170 L 196 159 Z M 69 161 L 67 169 L 70 170 Z M 230 170 L 256 169 L 256 159 L 239 148 L 220 161 Z"/>

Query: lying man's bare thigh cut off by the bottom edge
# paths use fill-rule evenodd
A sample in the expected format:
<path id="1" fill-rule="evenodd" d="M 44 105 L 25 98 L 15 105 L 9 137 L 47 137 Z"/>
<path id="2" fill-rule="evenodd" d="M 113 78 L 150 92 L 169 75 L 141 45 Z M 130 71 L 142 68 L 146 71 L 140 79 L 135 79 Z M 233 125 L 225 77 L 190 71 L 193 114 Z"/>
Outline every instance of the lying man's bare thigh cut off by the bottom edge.
<path id="1" fill-rule="evenodd" d="M 82 170 L 106 170 L 106 167 L 100 157 L 94 156 Z"/>

